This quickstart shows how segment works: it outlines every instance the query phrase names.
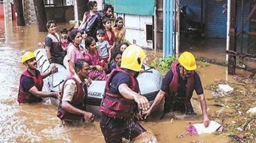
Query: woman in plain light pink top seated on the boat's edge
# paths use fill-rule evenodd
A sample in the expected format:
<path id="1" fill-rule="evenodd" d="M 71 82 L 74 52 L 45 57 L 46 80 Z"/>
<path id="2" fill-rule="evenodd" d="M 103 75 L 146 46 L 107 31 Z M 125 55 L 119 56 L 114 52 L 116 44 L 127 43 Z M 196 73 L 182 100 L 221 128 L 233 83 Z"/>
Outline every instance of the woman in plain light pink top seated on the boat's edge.
<path id="1" fill-rule="evenodd" d="M 68 47 L 67 60 L 69 65 L 67 66 L 67 78 L 71 78 L 74 73 L 74 63 L 77 59 L 84 59 L 85 53 L 81 50 L 80 43 L 82 36 L 79 30 L 74 29 L 69 33 L 69 41 L 72 43 Z"/>

